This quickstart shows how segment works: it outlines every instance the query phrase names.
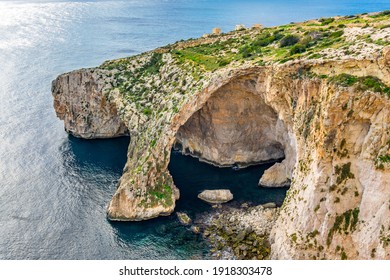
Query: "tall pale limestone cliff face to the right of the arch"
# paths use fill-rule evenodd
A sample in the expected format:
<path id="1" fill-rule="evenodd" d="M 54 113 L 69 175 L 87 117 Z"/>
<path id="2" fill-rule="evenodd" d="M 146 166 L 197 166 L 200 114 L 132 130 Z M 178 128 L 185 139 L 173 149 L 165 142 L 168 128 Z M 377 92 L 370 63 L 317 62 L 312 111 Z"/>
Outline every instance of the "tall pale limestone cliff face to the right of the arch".
<path id="1" fill-rule="evenodd" d="M 354 61 L 355 72 L 378 73 L 388 84 L 389 61 L 382 60 L 388 54 L 378 64 Z M 272 84 L 276 91 L 282 86 Z M 287 87 L 297 94 L 297 159 L 272 230 L 272 257 L 388 259 L 390 173 L 377 163 L 390 148 L 388 97 L 324 81 L 289 81 Z"/>

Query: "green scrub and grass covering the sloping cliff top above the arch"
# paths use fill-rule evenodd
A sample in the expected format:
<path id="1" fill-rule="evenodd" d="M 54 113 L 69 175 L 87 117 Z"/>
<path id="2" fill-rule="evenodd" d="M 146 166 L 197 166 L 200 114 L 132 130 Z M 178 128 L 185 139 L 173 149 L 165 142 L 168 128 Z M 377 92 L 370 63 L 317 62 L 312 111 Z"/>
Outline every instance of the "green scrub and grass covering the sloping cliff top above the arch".
<path id="1" fill-rule="evenodd" d="M 358 27 L 367 32 L 353 34 L 353 41 L 347 40 L 345 28 Z M 155 50 L 171 53 L 179 63 L 191 62 L 204 71 L 215 71 L 229 63 L 253 61 L 259 64 L 284 63 L 302 58 L 337 59 L 342 55 L 358 54 L 353 48 L 356 41 L 389 45 L 390 38 L 370 36 L 371 30 L 390 27 L 390 13 L 322 18 L 302 23 L 277 27 L 252 28 L 231 31 L 206 38 L 190 39 L 167 45 Z M 343 53 L 332 54 L 325 49 L 340 49 Z M 116 61 L 106 62 L 103 68 L 116 67 Z"/>

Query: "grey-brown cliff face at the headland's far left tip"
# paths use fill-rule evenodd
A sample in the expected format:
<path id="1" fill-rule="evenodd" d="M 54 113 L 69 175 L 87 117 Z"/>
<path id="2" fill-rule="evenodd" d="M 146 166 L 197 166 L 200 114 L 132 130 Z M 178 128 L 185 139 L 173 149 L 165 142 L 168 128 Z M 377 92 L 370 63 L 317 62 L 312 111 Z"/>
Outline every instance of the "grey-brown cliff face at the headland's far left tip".
<path id="1" fill-rule="evenodd" d="M 103 93 L 107 80 L 102 70 L 83 69 L 53 81 L 54 109 L 68 133 L 81 138 L 128 135 L 117 107 Z"/>

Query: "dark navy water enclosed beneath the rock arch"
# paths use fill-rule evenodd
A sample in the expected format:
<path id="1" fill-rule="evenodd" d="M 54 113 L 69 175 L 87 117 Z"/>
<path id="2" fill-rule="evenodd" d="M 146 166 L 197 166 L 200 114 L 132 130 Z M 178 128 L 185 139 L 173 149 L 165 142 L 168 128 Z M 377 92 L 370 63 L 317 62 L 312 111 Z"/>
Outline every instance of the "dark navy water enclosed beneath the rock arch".
<path id="1" fill-rule="evenodd" d="M 240 170 L 218 168 L 191 156 L 183 156 L 180 151 L 173 151 L 168 169 L 175 185 L 180 189 L 176 209 L 193 216 L 210 210 L 210 205 L 197 199 L 198 194 L 205 189 L 229 189 L 233 193 L 234 204 L 274 201 L 280 206 L 286 188 L 267 189 L 257 186 L 264 170 L 272 165 L 273 163 L 255 165 Z"/>

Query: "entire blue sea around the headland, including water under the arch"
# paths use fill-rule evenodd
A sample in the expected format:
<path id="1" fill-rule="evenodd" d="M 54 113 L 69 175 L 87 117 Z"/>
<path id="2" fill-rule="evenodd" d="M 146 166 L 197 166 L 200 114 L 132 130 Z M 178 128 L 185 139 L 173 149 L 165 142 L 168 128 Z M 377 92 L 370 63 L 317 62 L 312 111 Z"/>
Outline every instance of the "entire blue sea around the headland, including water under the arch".
<path id="1" fill-rule="evenodd" d="M 107 221 L 129 140 L 68 136 L 52 107 L 58 74 L 216 26 L 229 31 L 239 23 L 270 26 L 385 9 L 388 0 L 0 1 L 0 259 L 207 257 L 175 216 Z M 261 167 L 235 172 L 172 157 L 182 194 L 177 208 L 191 215 L 209 207 L 194 199 L 206 187 L 229 187 L 237 200 L 283 198 L 285 190 L 257 188 Z"/>

